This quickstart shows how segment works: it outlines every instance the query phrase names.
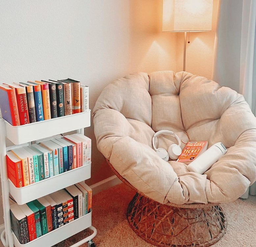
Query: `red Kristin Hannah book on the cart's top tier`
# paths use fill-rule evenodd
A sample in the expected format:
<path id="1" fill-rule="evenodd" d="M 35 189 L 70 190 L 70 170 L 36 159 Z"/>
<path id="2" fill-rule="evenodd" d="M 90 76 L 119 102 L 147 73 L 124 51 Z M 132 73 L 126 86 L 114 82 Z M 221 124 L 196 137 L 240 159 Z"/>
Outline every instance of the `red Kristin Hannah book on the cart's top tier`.
<path id="1" fill-rule="evenodd" d="M 20 125 L 29 124 L 28 101 L 26 88 L 15 83 L 5 84 L 15 89 Z"/>

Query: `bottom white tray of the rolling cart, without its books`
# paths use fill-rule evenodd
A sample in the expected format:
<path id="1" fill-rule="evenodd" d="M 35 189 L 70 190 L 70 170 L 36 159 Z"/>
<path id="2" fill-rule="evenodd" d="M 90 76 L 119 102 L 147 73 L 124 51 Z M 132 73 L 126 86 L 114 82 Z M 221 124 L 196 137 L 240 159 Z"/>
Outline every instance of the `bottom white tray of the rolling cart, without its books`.
<path id="1" fill-rule="evenodd" d="M 15 247 L 51 247 L 91 226 L 91 212 L 26 244 L 13 233 Z"/>

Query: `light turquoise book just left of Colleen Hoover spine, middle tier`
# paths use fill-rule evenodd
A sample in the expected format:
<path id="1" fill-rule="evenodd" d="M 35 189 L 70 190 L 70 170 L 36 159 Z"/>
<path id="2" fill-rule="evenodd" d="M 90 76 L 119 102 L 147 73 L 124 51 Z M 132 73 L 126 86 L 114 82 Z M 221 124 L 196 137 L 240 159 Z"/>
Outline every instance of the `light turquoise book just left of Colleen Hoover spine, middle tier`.
<path id="1" fill-rule="evenodd" d="M 58 144 L 54 143 L 51 140 L 41 141 L 40 144 L 52 151 L 54 176 L 63 173 L 62 147 L 60 147 Z M 61 154 L 59 153 L 59 149 L 61 149 Z M 62 164 L 59 163 L 59 159 Z"/>

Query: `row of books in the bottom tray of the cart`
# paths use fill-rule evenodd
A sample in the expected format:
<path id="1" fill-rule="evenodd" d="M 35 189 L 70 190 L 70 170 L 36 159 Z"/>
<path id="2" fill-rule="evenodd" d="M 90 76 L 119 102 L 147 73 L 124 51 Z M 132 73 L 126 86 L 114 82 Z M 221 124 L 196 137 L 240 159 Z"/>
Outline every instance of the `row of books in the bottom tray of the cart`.
<path id="1" fill-rule="evenodd" d="M 85 182 L 18 205 L 10 199 L 11 226 L 26 244 L 91 212 L 92 190 Z"/>

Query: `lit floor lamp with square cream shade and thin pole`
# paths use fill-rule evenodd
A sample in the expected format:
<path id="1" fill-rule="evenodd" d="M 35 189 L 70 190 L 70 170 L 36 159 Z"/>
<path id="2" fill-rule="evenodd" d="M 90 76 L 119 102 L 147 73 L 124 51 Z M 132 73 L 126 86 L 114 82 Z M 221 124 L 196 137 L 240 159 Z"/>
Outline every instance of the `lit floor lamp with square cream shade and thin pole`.
<path id="1" fill-rule="evenodd" d="M 213 0 L 163 0 L 163 32 L 184 32 L 183 71 L 187 32 L 212 30 Z"/>

